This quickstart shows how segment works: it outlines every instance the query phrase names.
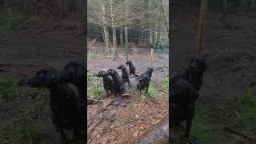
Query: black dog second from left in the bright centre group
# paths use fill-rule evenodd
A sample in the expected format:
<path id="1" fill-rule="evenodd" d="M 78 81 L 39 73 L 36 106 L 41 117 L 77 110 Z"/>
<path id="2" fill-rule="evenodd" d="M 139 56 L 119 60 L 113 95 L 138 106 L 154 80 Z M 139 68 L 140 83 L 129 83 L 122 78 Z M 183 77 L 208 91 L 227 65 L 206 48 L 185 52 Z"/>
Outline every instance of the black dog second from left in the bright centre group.
<path id="1" fill-rule="evenodd" d="M 114 69 L 107 70 L 107 75 L 110 75 L 114 81 L 114 95 L 117 96 L 117 93 L 122 95 L 122 92 L 125 90 L 124 83 L 122 82 L 122 78 L 119 76 L 118 72 Z"/>

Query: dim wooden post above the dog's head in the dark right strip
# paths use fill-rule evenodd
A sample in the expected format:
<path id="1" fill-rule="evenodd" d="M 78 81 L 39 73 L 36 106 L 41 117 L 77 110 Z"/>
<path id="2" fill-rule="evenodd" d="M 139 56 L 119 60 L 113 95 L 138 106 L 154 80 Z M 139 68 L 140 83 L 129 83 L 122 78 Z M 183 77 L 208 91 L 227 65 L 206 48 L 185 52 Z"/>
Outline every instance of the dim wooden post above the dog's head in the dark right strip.
<path id="1" fill-rule="evenodd" d="M 197 57 L 199 57 L 202 52 L 202 45 L 205 38 L 206 7 L 207 7 L 207 0 L 202 0 L 201 8 L 200 8 L 199 25 L 198 25 L 198 42 L 197 42 L 197 50 L 196 50 Z"/>

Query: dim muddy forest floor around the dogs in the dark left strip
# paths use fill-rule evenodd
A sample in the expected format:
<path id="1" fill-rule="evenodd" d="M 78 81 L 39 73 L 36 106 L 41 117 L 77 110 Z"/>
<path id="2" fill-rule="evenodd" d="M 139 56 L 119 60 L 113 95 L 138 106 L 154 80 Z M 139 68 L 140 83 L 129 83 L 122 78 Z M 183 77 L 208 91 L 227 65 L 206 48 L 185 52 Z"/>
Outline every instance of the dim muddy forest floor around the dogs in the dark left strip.
<path id="1" fill-rule="evenodd" d="M 17 82 L 48 66 L 62 70 L 67 62 L 84 60 L 82 22 L 42 24 L 31 18 L 17 25 L 5 16 L 0 16 L 0 143 L 57 143 L 48 90 Z"/>

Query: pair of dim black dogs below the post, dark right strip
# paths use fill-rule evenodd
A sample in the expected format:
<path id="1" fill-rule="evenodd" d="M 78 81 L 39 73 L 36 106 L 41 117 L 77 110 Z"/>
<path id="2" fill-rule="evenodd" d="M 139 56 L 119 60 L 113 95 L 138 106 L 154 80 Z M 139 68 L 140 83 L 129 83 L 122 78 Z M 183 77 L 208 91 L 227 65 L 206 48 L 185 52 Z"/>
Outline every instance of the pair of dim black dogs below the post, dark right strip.
<path id="1" fill-rule="evenodd" d="M 199 96 L 206 69 L 204 59 L 193 58 L 184 72 L 170 78 L 170 123 L 180 125 L 179 122 L 186 121 L 185 138 L 190 137 L 195 102 Z"/>

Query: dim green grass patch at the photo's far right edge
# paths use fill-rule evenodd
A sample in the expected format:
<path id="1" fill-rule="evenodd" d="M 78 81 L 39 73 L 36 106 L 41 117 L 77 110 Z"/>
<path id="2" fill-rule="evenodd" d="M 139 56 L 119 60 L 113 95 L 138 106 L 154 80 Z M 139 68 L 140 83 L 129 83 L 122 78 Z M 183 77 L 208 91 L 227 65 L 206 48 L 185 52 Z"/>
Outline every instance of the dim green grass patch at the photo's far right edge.
<path id="1" fill-rule="evenodd" d="M 256 129 L 256 86 L 250 87 L 242 100 L 242 111 L 238 114 L 238 120 L 247 130 Z"/>

